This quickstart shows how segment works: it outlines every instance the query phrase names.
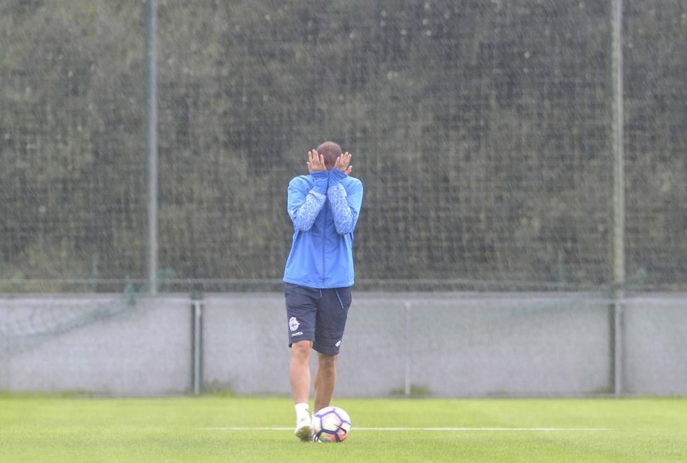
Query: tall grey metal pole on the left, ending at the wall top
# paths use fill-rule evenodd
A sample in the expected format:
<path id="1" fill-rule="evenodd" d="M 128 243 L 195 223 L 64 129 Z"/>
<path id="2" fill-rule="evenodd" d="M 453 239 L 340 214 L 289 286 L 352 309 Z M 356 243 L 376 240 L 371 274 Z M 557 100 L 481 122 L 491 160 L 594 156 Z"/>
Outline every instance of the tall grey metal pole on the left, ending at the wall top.
<path id="1" fill-rule="evenodd" d="M 148 288 L 157 294 L 157 24 L 155 0 L 146 1 L 148 102 Z"/>

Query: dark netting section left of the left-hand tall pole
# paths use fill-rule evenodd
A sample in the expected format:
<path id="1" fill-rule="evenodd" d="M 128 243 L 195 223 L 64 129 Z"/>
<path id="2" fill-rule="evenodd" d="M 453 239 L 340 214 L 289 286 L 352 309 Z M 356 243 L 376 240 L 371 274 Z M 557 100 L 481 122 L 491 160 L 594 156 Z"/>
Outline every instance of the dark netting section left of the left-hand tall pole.
<path id="1" fill-rule="evenodd" d="M 140 1 L 0 6 L 1 290 L 145 276 L 142 29 Z"/>

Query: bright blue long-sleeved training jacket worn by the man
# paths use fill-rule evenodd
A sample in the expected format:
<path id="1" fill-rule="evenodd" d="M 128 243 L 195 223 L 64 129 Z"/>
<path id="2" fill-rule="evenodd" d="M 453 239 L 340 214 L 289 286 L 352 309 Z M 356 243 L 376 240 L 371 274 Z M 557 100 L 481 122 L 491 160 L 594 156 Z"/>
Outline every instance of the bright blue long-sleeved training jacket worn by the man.
<path id="1" fill-rule="evenodd" d="M 353 230 L 362 202 L 362 182 L 336 167 L 289 182 L 286 210 L 294 232 L 286 283 L 322 289 L 354 283 Z"/>

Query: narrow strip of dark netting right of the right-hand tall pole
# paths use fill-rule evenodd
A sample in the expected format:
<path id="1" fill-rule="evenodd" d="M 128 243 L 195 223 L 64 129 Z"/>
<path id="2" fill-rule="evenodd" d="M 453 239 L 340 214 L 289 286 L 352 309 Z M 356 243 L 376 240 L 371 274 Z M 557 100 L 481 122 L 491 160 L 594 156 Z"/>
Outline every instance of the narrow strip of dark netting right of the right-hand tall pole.
<path id="1" fill-rule="evenodd" d="M 625 27 L 627 279 L 685 289 L 687 4 L 628 1 Z"/>

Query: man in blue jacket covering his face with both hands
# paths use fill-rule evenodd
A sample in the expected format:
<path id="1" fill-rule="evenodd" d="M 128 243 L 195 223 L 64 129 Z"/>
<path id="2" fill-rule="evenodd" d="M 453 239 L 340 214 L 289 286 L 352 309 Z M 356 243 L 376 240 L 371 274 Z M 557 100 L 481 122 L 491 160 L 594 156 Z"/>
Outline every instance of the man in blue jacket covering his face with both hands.
<path id="1" fill-rule="evenodd" d="M 317 351 L 315 407 L 327 407 L 336 381 L 337 355 L 351 302 L 353 230 L 363 184 L 351 177 L 351 155 L 331 141 L 308 152 L 308 175 L 289 182 L 287 211 L 293 240 L 284 270 L 289 322 L 289 380 L 295 402 L 295 435 L 313 439 L 308 412 L 310 356 Z"/>

